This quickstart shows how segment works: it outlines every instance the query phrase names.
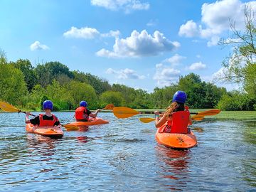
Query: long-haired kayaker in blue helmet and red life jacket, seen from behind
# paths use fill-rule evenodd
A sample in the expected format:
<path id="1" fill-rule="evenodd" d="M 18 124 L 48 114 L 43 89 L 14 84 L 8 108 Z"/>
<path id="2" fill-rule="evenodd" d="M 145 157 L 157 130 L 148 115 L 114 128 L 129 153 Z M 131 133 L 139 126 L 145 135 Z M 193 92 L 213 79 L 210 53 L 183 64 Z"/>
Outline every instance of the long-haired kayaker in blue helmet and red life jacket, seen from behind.
<path id="1" fill-rule="evenodd" d="M 161 127 L 163 124 L 166 124 L 161 132 L 166 133 L 189 133 L 188 124 L 192 124 L 192 119 L 190 112 L 188 111 L 188 106 L 185 106 L 186 102 L 186 92 L 177 91 L 174 94 L 171 105 L 167 108 L 166 112 L 163 115 L 159 111 L 155 111 L 155 125 L 156 128 Z"/>

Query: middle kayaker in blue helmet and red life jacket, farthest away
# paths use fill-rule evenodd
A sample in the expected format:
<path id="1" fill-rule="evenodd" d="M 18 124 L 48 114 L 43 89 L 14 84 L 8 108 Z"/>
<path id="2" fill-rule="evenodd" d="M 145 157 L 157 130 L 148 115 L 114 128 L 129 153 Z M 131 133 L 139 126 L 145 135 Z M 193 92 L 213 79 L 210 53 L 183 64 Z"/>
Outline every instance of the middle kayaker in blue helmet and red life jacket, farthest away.
<path id="1" fill-rule="evenodd" d="M 75 119 L 77 122 L 87 122 L 89 117 L 97 117 L 98 112 L 100 112 L 100 109 L 97 109 L 95 113 L 92 113 L 89 109 L 87 109 L 87 102 L 81 101 L 80 107 L 75 110 Z"/>

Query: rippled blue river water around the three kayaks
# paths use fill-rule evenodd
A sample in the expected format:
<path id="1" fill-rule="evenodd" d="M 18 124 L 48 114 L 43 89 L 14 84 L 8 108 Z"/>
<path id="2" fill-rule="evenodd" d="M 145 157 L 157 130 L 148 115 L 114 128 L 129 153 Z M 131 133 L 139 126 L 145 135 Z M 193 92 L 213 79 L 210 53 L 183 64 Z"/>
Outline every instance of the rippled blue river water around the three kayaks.
<path id="1" fill-rule="evenodd" d="M 110 124 L 49 139 L 26 133 L 24 114 L 0 113 L 0 191 L 256 191 L 256 120 L 194 122 L 198 146 L 177 151 L 142 116 L 98 117 Z"/>

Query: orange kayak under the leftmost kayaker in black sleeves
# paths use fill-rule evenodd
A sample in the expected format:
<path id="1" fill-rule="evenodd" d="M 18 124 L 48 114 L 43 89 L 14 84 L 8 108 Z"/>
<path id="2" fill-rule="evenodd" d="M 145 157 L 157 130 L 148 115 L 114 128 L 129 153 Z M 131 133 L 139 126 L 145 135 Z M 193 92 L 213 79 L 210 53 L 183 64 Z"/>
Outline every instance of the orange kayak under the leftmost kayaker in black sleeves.
<path id="1" fill-rule="evenodd" d="M 51 138 L 61 138 L 64 134 L 60 127 L 38 127 L 31 123 L 26 124 L 26 132 L 40 134 Z"/>

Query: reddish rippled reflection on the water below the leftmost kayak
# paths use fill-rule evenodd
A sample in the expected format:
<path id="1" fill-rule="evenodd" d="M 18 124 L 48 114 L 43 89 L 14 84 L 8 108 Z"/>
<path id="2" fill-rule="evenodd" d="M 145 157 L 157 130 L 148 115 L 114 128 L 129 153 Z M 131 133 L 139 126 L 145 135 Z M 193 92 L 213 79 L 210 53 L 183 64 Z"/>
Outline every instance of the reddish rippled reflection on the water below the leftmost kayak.
<path id="1" fill-rule="evenodd" d="M 38 134 L 27 134 L 28 151 L 36 151 L 43 156 L 52 156 L 55 152 L 56 139 L 50 137 L 43 137 Z M 48 159 L 46 159 L 47 161 Z"/>

